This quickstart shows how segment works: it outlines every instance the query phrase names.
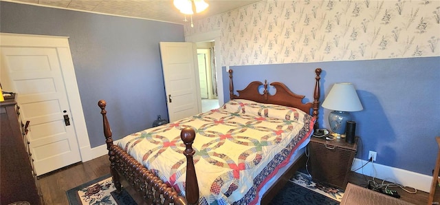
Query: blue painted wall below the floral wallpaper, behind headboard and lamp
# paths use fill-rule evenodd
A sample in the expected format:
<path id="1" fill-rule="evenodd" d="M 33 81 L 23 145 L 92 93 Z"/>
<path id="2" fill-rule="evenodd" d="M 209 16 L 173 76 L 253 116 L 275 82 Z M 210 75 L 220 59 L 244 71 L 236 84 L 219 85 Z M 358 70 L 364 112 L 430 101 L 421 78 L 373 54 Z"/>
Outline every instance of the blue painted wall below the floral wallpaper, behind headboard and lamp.
<path id="1" fill-rule="evenodd" d="M 364 110 L 352 112 L 356 134 L 362 138 L 357 158 L 377 151 L 377 163 L 432 175 L 440 136 L 440 57 L 393 58 L 275 65 L 231 66 L 234 88 L 253 80 L 281 81 L 313 100 L 314 69 L 323 69 L 321 100 L 333 83 L 350 82 Z M 225 67 L 223 67 L 225 72 Z M 229 99 L 228 75 L 223 75 Z M 320 127 L 328 128 L 330 110 L 320 109 Z"/>

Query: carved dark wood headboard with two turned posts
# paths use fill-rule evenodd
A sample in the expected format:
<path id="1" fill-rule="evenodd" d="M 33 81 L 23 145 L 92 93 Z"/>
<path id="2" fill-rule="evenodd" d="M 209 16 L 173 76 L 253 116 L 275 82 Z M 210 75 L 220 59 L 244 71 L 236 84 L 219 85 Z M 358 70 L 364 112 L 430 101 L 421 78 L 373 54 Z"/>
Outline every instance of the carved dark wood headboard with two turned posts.
<path id="1" fill-rule="evenodd" d="M 229 70 L 230 99 L 231 100 L 248 99 L 261 103 L 267 103 L 270 101 L 272 104 L 276 104 L 276 105 L 296 107 L 298 109 L 305 111 L 308 114 L 311 114 L 316 118 L 316 123 L 314 125 L 315 126 L 314 128 L 316 129 L 318 127 L 321 72 L 322 69 L 320 68 L 315 69 L 316 77 L 315 77 L 315 88 L 314 88 L 314 101 L 303 104 L 303 99 L 305 98 L 305 96 L 294 94 L 283 83 L 279 83 L 279 82 L 270 83 L 270 85 L 272 85 L 276 89 L 276 93 L 274 95 L 270 95 L 269 91 L 267 90 L 267 80 L 265 80 L 264 83 L 261 83 L 260 81 L 254 81 L 250 83 L 248 87 L 245 87 L 245 89 L 237 90 L 237 92 L 239 93 L 239 95 L 237 96 L 234 94 L 234 83 L 232 83 L 233 71 L 232 69 L 230 69 Z M 261 85 L 263 85 L 264 87 L 263 94 L 255 94 L 250 92 L 250 90 L 258 91 Z M 292 97 L 294 98 L 294 100 L 292 100 Z M 310 111 L 310 109 L 313 109 L 313 111 Z"/>

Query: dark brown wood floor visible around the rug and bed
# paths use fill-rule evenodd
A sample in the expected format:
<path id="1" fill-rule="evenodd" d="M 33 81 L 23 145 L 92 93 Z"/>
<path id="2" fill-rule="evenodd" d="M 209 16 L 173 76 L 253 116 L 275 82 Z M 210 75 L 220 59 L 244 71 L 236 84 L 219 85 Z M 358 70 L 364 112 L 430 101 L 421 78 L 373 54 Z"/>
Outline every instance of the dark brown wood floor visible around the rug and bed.
<path id="1" fill-rule="evenodd" d="M 44 203 L 47 205 L 69 204 L 66 191 L 110 173 L 109 164 L 109 157 L 104 155 L 100 158 L 90 160 L 89 162 L 80 162 L 58 171 L 42 175 L 39 177 L 39 184 L 41 187 L 41 193 L 43 194 Z M 371 180 L 371 177 L 359 173 L 351 173 L 349 175 L 349 182 L 352 184 L 366 187 L 367 180 Z M 378 180 L 376 182 L 381 183 Z M 428 193 L 426 192 L 417 191 L 415 194 L 410 194 L 404 192 L 400 188 L 393 189 L 401 195 L 401 199 L 407 202 L 413 204 L 428 203 Z"/>

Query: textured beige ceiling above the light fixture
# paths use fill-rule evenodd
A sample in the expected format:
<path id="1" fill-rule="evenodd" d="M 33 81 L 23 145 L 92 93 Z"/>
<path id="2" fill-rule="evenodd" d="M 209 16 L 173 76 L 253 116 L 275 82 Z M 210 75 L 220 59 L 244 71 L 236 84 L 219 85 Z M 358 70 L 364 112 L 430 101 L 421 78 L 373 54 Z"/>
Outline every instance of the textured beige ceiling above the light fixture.
<path id="1" fill-rule="evenodd" d="M 72 10 L 83 10 L 104 14 L 115 14 L 126 17 L 153 19 L 173 23 L 184 23 L 184 14 L 181 14 L 173 5 L 173 0 L 3 0 L 17 3 L 38 4 L 40 6 L 52 6 Z M 259 0 L 261 1 L 261 0 Z M 215 14 L 221 14 L 229 10 L 241 8 L 258 1 L 225 1 L 206 0 L 209 7 L 193 15 L 192 19 L 203 19 Z M 189 20 L 190 17 L 187 17 Z"/>

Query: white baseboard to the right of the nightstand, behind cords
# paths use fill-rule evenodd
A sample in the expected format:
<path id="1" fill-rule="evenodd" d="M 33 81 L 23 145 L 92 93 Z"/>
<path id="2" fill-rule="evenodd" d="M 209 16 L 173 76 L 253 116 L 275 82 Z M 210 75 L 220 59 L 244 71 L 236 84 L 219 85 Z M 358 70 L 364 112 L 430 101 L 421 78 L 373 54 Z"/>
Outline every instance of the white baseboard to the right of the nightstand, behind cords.
<path id="1" fill-rule="evenodd" d="M 355 158 L 353 166 L 351 166 L 351 171 L 358 169 L 366 160 L 360 160 Z M 361 173 L 363 175 L 368 175 L 371 177 L 376 177 L 380 180 L 386 180 L 388 182 L 394 182 L 396 184 L 401 184 L 404 186 L 410 186 L 412 188 L 417 188 L 419 191 L 424 191 L 429 193 L 430 185 L 432 181 L 432 176 L 423 175 L 421 173 L 416 173 L 412 171 L 407 171 L 404 169 L 395 168 L 393 166 L 385 166 L 382 164 L 369 163 L 364 166 L 363 169 L 359 169 L 356 173 Z"/>

